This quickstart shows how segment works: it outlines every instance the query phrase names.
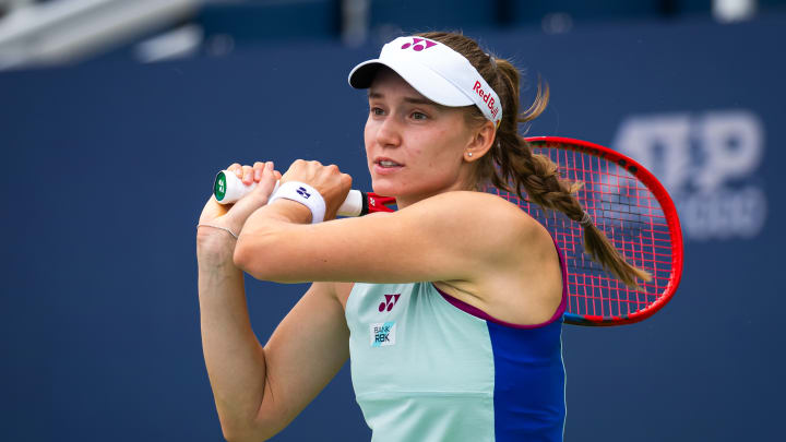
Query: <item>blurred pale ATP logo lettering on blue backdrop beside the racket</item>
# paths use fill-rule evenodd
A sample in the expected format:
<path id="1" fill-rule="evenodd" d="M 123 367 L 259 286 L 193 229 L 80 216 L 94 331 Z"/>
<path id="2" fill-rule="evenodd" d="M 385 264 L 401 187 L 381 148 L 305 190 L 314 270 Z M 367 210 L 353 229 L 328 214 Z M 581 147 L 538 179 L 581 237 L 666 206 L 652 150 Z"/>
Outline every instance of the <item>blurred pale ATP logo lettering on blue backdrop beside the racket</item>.
<path id="1" fill-rule="evenodd" d="M 751 238 L 762 230 L 767 201 L 758 169 L 764 129 L 752 111 L 631 116 L 614 148 L 666 187 L 688 239 Z"/>

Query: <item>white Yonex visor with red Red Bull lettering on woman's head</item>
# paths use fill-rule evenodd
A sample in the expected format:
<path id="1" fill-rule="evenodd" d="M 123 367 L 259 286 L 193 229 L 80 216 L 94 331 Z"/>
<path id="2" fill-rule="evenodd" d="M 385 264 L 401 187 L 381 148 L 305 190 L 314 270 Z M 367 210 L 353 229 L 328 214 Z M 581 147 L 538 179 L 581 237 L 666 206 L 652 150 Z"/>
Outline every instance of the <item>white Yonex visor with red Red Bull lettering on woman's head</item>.
<path id="1" fill-rule="evenodd" d="M 475 105 L 495 127 L 502 120 L 499 96 L 461 53 L 422 37 L 398 37 L 382 47 L 379 58 L 364 61 L 349 72 L 349 85 L 365 89 L 385 65 L 415 91 L 442 106 Z"/>

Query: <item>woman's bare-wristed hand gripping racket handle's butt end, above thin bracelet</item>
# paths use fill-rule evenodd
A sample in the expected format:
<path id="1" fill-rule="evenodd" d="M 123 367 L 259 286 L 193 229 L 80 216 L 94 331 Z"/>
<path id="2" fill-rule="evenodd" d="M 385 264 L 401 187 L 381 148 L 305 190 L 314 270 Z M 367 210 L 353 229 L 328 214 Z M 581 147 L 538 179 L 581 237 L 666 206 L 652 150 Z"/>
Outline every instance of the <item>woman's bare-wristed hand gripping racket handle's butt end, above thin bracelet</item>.
<path id="1" fill-rule="evenodd" d="M 217 227 L 227 228 L 235 235 L 239 235 L 246 219 L 258 208 L 267 204 L 275 183 L 281 179 L 281 172 L 274 169 L 273 162 L 254 163 L 252 166 L 241 166 L 238 163 L 227 167 L 227 170 L 237 175 L 243 184 L 257 182 L 257 187 L 247 195 L 241 198 L 234 204 L 218 204 L 215 196 L 211 195 L 207 203 L 202 208 L 199 224 L 210 224 Z M 198 230 L 198 246 L 216 235 L 229 238 L 229 234 L 219 231 L 221 229 L 212 227 L 202 227 Z M 233 239 L 234 241 L 234 239 Z"/>

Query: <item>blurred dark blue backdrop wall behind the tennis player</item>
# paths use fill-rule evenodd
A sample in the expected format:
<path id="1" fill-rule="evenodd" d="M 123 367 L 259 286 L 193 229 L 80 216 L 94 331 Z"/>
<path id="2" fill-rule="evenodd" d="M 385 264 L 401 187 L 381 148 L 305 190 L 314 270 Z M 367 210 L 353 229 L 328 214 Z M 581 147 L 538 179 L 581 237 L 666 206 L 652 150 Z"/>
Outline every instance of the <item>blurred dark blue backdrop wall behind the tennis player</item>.
<path id="1" fill-rule="evenodd" d="M 431 29 L 512 59 L 524 100 L 548 81 L 529 134 L 627 153 L 680 212 L 674 301 L 564 327 L 565 440 L 778 439 L 786 1 L 0 0 L 0 440 L 221 440 L 194 256 L 215 172 L 313 158 L 368 188 L 346 75 Z M 305 290 L 247 287 L 263 342 Z M 273 440 L 369 437 L 345 367 Z"/>

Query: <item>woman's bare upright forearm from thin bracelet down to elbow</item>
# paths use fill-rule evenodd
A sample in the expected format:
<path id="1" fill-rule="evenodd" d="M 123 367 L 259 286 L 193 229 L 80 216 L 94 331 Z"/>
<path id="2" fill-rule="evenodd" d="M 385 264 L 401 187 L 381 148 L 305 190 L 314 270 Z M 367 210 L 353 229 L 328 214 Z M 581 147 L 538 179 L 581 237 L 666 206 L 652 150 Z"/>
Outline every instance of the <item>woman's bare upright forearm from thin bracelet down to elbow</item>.
<path id="1" fill-rule="evenodd" d="M 264 349 L 250 324 L 234 239 L 221 231 L 198 239 L 202 348 L 225 437 L 253 429 L 265 387 Z"/>

